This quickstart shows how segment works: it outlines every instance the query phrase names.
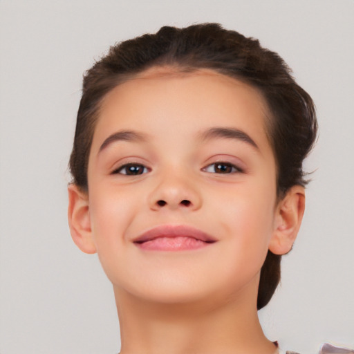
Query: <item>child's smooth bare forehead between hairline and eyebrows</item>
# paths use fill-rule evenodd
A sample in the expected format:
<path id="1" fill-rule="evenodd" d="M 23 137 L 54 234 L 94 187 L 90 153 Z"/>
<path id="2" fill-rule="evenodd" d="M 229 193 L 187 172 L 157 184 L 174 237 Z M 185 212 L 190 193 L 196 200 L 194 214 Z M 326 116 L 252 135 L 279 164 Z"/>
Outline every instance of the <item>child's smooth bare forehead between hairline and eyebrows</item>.
<path id="1" fill-rule="evenodd" d="M 166 135 L 230 124 L 268 140 L 268 116 L 261 93 L 245 82 L 207 69 L 151 68 L 104 97 L 93 143 L 118 129 Z"/>

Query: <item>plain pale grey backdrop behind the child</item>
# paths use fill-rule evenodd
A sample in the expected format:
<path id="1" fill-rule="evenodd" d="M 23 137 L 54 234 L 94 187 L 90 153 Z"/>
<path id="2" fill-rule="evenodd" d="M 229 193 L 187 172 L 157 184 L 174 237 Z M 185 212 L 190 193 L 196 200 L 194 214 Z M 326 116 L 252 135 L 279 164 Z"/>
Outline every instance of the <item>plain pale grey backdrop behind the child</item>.
<path id="1" fill-rule="evenodd" d="M 117 41 L 206 21 L 277 51 L 317 106 L 306 216 L 265 333 L 302 354 L 354 347 L 353 0 L 0 0 L 1 354 L 118 353 L 111 284 L 66 219 L 82 73 Z"/>

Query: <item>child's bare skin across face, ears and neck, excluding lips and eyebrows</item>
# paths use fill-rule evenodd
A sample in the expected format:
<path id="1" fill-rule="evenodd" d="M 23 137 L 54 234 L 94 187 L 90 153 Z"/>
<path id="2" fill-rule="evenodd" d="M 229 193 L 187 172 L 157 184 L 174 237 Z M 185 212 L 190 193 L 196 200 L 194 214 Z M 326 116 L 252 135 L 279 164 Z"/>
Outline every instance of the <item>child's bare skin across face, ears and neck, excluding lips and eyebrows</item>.
<path id="1" fill-rule="evenodd" d="M 276 350 L 257 317 L 259 274 L 268 249 L 291 249 L 304 189 L 295 186 L 277 201 L 269 117 L 255 88 L 207 70 L 153 68 L 106 95 L 88 161 L 88 194 L 69 186 L 68 218 L 75 243 L 97 252 L 113 284 L 121 354 Z M 203 138 L 216 127 L 242 131 L 257 147 L 239 138 Z M 122 130 L 144 140 L 102 148 Z M 124 174 L 127 163 L 142 174 Z M 179 252 L 133 243 L 158 225 L 196 227 L 216 242 Z"/>

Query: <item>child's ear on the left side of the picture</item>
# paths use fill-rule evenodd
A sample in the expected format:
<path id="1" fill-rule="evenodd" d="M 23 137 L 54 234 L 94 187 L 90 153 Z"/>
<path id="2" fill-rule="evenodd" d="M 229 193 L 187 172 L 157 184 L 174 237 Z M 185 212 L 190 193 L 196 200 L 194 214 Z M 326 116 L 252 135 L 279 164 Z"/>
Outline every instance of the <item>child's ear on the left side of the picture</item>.
<path id="1" fill-rule="evenodd" d="M 88 194 L 81 192 L 77 185 L 68 185 L 68 222 L 71 237 L 82 252 L 95 253 L 93 243 Z"/>

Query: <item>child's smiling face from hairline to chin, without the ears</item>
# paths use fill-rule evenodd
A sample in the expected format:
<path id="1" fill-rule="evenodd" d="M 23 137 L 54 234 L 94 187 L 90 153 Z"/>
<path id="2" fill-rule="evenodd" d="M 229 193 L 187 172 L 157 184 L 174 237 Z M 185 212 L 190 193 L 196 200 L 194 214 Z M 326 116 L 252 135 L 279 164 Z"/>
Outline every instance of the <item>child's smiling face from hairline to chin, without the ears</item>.
<path id="1" fill-rule="evenodd" d="M 115 290 L 165 303 L 257 297 L 276 209 L 266 112 L 256 89 L 212 71 L 149 71 L 105 97 L 88 210 Z"/>

